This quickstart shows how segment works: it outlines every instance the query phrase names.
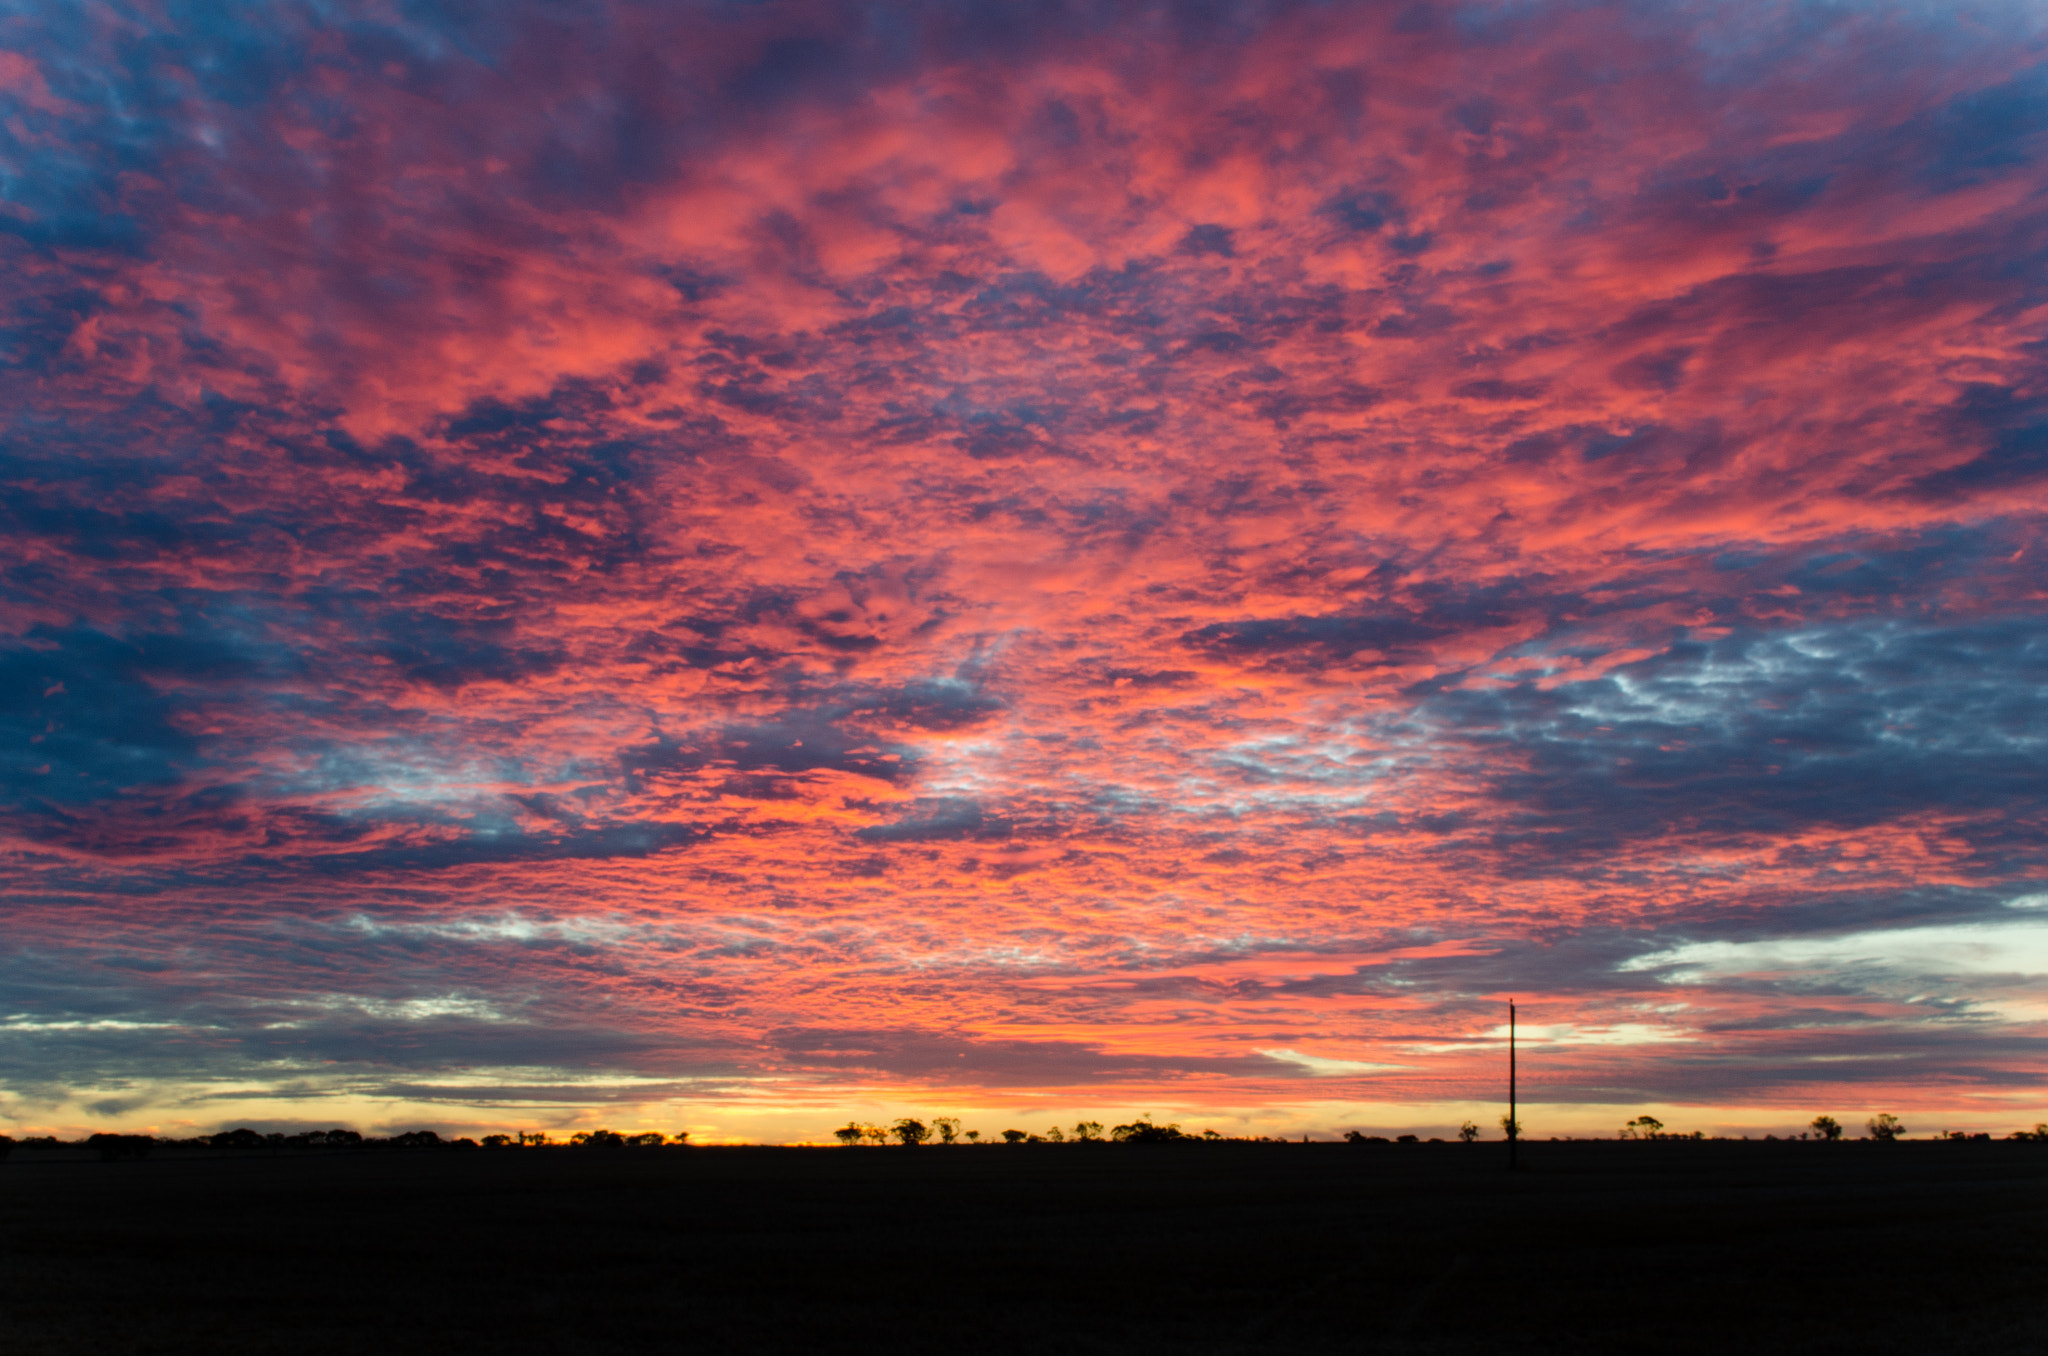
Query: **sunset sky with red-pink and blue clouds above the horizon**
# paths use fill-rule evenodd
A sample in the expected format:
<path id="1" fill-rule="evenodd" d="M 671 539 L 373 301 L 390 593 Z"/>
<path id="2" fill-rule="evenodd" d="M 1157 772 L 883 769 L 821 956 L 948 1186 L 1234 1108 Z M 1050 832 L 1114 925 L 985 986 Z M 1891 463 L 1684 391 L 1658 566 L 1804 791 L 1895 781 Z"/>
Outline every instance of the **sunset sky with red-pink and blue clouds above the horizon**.
<path id="1" fill-rule="evenodd" d="M 2048 1118 L 2036 4 L 0 4 L 0 1129 Z"/>

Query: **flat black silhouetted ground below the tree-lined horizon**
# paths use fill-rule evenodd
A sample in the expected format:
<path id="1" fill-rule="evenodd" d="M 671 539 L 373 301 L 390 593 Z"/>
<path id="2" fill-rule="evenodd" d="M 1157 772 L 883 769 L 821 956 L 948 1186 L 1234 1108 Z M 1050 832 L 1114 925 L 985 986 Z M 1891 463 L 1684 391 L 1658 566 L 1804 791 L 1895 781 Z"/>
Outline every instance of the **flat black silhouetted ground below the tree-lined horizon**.
<path id="1" fill-rule="evenodd" d="M 2048 1145 L 0 1163 L 0 1352 L 2048 1352 Z"/>

